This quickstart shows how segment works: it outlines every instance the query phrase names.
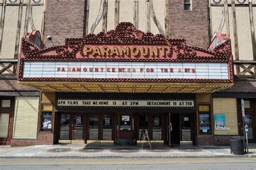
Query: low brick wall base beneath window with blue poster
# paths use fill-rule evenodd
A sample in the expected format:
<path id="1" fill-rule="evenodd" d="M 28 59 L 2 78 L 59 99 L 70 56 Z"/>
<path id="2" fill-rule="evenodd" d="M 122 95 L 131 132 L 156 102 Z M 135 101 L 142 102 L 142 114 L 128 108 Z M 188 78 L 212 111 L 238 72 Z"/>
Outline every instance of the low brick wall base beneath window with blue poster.
<path id="1" fill-rule="evenodd" d="M 196 145 L 230 145 L 230 138 L 236 135 L 196 136 Z"/>

